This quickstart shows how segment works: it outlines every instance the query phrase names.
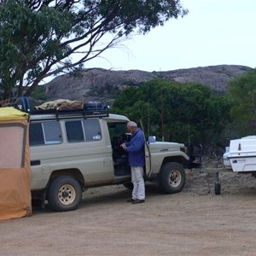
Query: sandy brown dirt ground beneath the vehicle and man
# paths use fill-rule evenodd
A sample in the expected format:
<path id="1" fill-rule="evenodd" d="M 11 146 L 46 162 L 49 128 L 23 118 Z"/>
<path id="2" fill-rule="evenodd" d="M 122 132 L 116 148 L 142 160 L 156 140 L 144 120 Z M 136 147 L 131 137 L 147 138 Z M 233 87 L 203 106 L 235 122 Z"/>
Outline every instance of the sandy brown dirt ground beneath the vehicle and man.
<path id="1" fill-rule="evenodd" d="M 214 194 L 215 173 L 222 192 Z M 0 221 L 0 255 L 255 255 L 256 179 L 222 168 L 187 171 L 182 192 L 146 188 L 145 203 L 123 186 L 88 189 L 73 212 L 33 208 Z"/>

